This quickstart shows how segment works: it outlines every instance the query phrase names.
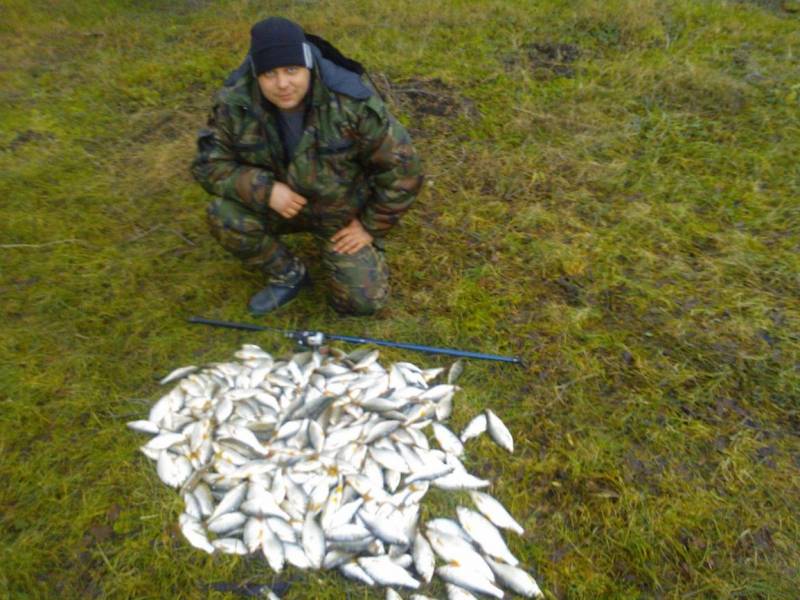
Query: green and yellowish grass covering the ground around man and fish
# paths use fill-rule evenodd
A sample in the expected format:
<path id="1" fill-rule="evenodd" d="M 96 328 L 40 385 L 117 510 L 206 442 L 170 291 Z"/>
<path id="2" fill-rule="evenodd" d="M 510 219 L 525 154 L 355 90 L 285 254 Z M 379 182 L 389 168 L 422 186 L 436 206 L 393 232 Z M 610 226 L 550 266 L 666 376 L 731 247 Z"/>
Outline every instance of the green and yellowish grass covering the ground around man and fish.
<path id="1" fill-rule="evenodd" d="M 512 550 L 551 597 L 795 597 L 793 7 L 7 0 L 0 595 L 273 581 L 181 539 L 180 500 L 124 423 L 175 366 L 290 350 L 184 322 L 248 319 L 259 281 L 207 234 L 188 164 L 250 24 L 283 14 L 390 82 L 427 185 L 390 239 L 382 314 L 338 317 L 317 286 L 265 323 L 524 357 L 470 363 L 453 422 L 489 406 L 511 426 L 513 456 L 476 440 L 469 464 L 526 526 Z M 381 597 L 280 578 L 287 598 Z"/>

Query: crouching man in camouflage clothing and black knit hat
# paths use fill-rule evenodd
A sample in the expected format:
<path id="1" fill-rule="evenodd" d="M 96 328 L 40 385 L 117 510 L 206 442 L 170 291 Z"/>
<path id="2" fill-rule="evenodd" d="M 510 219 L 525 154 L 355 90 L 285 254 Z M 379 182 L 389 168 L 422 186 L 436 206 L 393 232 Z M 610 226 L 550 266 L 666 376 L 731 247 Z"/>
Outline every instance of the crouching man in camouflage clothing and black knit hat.
<path id="1" fill-rule="evenodd" d="M 311 232 L 344 314 L 386 301 L 383 239 L 422 185 L 408 133 L 361 79 L 363 68 L 299 25 L 271 17 L 251 30 L 245 63 L 217 94 L 192 173 L 214 195 L 212 235 L 267 285 L 265 314 L 309 283 L 280 236 Z"/>

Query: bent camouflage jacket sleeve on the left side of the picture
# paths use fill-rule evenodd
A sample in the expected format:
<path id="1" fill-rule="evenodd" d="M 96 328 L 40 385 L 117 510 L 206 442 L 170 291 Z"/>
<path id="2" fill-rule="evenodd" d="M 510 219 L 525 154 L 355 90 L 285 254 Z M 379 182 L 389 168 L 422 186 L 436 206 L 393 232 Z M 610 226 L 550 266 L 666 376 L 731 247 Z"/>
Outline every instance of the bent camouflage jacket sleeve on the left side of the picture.
<path id="1" fill-rule="evenodd" d="M 214 106 L 208 128 L 200 130 L 197 139 L 192 175 L 208 193 L 265 212 L 269 207 L 274 176 L 267 169 L 237 161 L 233 151 L 231 110 L 235 107 L 224 103 Z"/>

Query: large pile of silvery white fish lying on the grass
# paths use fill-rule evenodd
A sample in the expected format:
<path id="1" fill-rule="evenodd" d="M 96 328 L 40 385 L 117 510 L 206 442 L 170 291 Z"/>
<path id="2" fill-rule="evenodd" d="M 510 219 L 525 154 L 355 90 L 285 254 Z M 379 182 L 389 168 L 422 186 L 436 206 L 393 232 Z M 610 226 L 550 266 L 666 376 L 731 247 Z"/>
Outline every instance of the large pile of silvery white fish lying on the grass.
<path id="1" fill-rule="evenodd" d="M 146 420 L 128 426 L 153 437 L 141 447 L 159 478 L 180 490 L 180 528 L 208 553 L 262 552 L 280 572 L 339 569 L 346 577 L 417 590 L 434 574 L 451 600 L 501 586 L 541 595 L 518 567 L 500 529 L 522 527 L 461 462 L 464 443 L 485 431 L 513 451 L 491 410 L 461 435 L 450 416 L 460 363 L 444 369 L 408 362 L 388 369 L 378 352 L 331 349 L 277 360 L 247 344 L 237 361 L 176 369 L 177 382 Z M 425 431 L 430 430 L 433 440 Z M 430 488 L 467 490 L 473 508 L 419 523 Z M 419 594 L 411 598 L 421 600 Z"/>

